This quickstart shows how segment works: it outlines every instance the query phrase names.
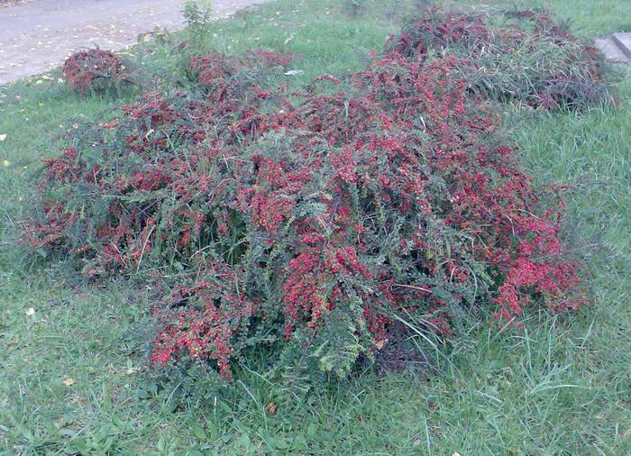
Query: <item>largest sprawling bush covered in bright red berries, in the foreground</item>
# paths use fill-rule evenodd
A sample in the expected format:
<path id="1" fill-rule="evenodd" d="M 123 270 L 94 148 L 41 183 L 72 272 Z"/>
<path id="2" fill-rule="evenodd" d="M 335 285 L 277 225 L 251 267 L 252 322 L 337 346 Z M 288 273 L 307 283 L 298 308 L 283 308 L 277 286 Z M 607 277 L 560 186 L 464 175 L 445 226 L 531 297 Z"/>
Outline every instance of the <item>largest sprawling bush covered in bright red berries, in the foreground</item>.
<path id="1" fill-rule="evenodd" d="M 343 377 L 400 333 L 581 306 L 562 204 L 520 168 L 469 62 L 393 42 L 297 93 L 274 52 L 192 59 L 190 90 L 147 93 L 46 160 L 25 239 L 88 277 L 168 286 L 152 360 L 224 378 L 261 350 L 283 375 Z"/>

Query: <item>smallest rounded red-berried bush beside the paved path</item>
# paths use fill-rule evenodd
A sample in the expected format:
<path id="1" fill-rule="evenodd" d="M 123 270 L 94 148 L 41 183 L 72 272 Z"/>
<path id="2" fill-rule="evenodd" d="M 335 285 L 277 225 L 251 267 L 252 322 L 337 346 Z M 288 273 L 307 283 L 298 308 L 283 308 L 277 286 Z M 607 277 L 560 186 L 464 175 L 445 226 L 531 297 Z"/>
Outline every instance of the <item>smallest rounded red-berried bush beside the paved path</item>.
<path id="1" fill-rule="evenodd" d="M 123 84 L 133 84 L 133 71 L 129 62 L 111 50 L 98 48 L 79 50 L 63 65 L 63 74 L 69 86 L 86 95 L 90 90 L 114 88 L 120 93 Z"/>

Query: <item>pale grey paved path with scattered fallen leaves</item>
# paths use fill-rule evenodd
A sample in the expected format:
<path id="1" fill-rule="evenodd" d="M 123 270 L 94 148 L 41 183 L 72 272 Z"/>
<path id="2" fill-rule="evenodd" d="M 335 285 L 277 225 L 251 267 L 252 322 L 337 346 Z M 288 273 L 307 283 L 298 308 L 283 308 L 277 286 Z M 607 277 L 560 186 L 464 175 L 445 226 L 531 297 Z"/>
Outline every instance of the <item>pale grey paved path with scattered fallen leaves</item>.
<path id="1" fill-rule="evenodd" d="M 263 0 L 213 0 L 222 16 Z M 183 0 L 33 0 L 0 8 L 0 84 L 57 67 L 94 46 L 120 50 L 157 25 L 183 26 Z"/>

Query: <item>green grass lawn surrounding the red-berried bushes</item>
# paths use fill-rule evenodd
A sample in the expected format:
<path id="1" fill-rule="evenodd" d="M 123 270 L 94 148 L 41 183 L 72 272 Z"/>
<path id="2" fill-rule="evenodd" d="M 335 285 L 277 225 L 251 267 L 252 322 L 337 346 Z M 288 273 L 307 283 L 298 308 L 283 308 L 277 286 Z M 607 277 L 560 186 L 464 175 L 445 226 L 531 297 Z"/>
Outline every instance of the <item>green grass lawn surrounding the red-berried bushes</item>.
<path id="1" fill-rule="evenodd" d="M 538 3 L 586 35 L 631 29 L 625 0 Z M 213 44 L 294 51 L 306 80 L 361 68 L 401 16 L 387 2 L 357 17 L 339 2 L 303 4 L 280 1 L 217 23 Z M 164 50 L 148 52 L 147 68 L 168 70 Z M 580 238 L 589 265 L 588 311 L 535 315 L 525 332 L 472 327 L 440 375 L 367 372 L 270 415 L 265 405 L 278 391 L 255 376 L 223 397 L 156 393 L 133 334 L 147 293 L 120 282 L 79 287 L 55 265 L 21 258 L 15 231 L 38 160 L 57 153 L 63 129 L 121 101 L 81 99 L 57 75 L 0 87 L 0 453 L 631 453 L 630 71 L 618 92 L 617 107 L 587 114 L 506 114 L 536 178 L 571 186 L 568 236 Z"/>

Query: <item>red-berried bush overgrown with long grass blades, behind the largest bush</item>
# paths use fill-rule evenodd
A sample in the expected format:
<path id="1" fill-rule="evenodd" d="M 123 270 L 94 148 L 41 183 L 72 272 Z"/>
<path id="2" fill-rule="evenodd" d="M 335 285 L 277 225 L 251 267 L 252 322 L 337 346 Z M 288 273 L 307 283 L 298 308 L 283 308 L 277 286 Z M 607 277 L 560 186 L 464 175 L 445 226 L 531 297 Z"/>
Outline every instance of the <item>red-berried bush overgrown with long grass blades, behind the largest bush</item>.
<path id="1" fill-rule="evenodd" d="M 452 55 L 470 89 L 498 101 L 558 109 L 610 99 L 602 53 L 544 11 L 483 15 L 432 8 L 390 37 L 386 48 L 408 58 Z"/>

